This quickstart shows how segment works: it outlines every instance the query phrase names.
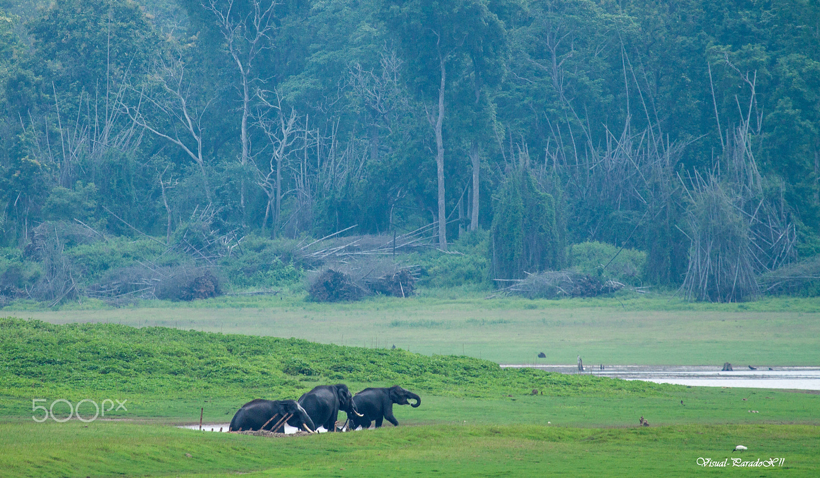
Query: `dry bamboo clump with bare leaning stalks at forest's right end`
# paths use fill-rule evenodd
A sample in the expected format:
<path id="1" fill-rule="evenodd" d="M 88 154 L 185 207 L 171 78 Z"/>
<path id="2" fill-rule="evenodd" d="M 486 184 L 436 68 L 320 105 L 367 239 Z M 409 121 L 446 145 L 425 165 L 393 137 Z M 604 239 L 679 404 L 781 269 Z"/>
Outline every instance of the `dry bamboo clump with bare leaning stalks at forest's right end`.
<path id="1" fill-rule="evenodd" d="M 779 193 L 768 192 L 754 158 L 752 140 L 763 124 L 756 74 L 741 73 L 725 60 L 749 87 L 749 104 L 744 111 L 736 97 L 740 120 L 721 139 L 723 152 L 713 171 L 688 178 L 691 245 L 681 291 L 690 299 L 736 302 L 759 293 L 758 275 L 794 260 L 797 234 L 783 205 L 782 184 Z"/>

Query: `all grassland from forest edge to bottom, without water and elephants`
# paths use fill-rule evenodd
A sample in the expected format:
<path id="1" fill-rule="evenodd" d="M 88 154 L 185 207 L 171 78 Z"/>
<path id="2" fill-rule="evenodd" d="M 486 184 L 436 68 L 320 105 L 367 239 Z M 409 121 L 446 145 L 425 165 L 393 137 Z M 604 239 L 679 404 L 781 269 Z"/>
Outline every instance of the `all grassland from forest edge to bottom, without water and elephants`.
<path id="1" fill-rule="evenodd" d="M 376 339 L 380 347 L 389 342 L 375 333 L 367 342 L 367 331 L 359 334 L 366 347 L 351 347 L 357 344 L 342 331 L 418 332 L 412 335 L 416 345 L 397 345 L 424 353 L 441 351 L 423 337 L 461 353 L 455 340 L 462 334 L 486 340 L 487 347 L 507 344 L 498 356 L 514 358 L 530 335 L 543 333 L 557 344 L 569 341 L 565 353 L 573 344 L 602 354 L 611 347 L 609 362 L 637 357 L 634 362 L 670 363 L 664 357 L 671 356 L 702 363 L 690 357 L 721 353 L 742 363 L 736 357 L 751 357 L 750 351 L 761 348 L 773 363 L 811 365 L 818 362 L 818 312 L 811 300 L 740 304 L 746 309 L 642 298 L 617 306 L 430 297 L 335 306 L 294 297 L 221 301 L 4 312 L 52 323 L 102 323 L 0 318 L 0 476 L 817 476 L 820 469 L 818 394 L 502 369 L 476 358 L 479 353 L 443 357 L 374 348 Z M 176 323 L 165 324 L 170 328 L 153 327 L 171 320 Z M 225 326 L 229 320 L 233 328 Z M 544 320 L 554 321 L 549 334 L 539 331 Z M 285 322 L 301 334 L 276 332 Z M 768 339 L 755 330 L 772 323 L 776 332 Z M 228 334 L 247 327 L 306 337 L 332 326 L 340 327 L 348 346 L 332 344 L 329 331 L 322 332 L 325 344 Z M 694 327 L 713 335 L 695 334 Z M 647 343 L 654 343 L 630 350 L 640 341 L 630 342 L 629 330 L 644 331 Z M 514 342 L 514 334 L 525 346 Z M 699 352 L 686 350 L 676 334 Z M 574 355 L 544 362 L 550 357 L 572 362 Z M 269 439 L 175 427 L 198 422 L 200 408 L 206 425 L 225 424 L 251 398 L 297 398 L 314 385 L 337 382 L 353 391 L 400 384 L 421 394 L 422 404 L 394 407 L 399 427 L 347 434 Z M 533 396 L 531 389 L 543 395 Z M 47 405 L 57 398 L 126 399 L 127 410 L 87 424 L 35 423 L 32 416 L 39 414 L 32 411 L 32 398 L 44 398 Z M 67 406 L 54 412 L 64 416 Z M 84 413 L 93 415 L 93 407 Z M 652 426 L 637 426 L 640 416 Z M 736 444 L 749 451 L 732 454 Z M 699 458 L 782 458 L 783 464 L 732 467 L 730 460 L 728 467 L 714 468 L 700 467 Z"/>

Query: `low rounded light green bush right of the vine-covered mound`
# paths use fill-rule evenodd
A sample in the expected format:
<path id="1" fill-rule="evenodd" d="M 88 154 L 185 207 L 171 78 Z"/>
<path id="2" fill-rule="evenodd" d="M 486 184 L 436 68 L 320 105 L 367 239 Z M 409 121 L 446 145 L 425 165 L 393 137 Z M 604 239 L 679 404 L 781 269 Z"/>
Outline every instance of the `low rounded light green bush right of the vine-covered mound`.
<path id="1" fill-rule="evenodd" d="M 641 285 L 646 253 L 629 248 L 623 248 L 618 253 L 618 249 L 613 244 L 597 241 L 572 244 L 569 249 L 570 265 L 572 270 L 582 274 L 597 275 L 601 279 L 617 280 L 628 285 Z"/>

